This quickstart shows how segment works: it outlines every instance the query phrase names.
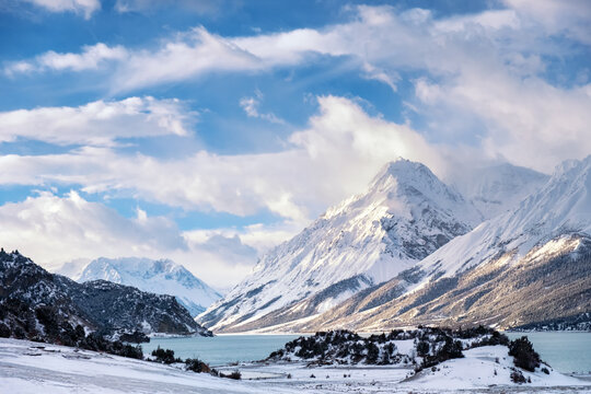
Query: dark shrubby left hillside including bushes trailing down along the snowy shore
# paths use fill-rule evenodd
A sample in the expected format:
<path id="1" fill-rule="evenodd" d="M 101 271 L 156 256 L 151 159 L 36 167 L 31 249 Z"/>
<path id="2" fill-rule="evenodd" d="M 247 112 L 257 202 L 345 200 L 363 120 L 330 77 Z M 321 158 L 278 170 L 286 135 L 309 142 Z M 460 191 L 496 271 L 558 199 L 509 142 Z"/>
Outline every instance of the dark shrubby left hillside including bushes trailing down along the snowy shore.
<path id="1" fill-rule="evenodd" d="M 164 333 L 211 333 L 193 321 L 174 297 L 95 280 L 77 283 L 53 275 L 18 251 L 0 250 L 0 337 L 78 347 L 143 360 L 141 346 L 149 341 L 139 331 L 149 322 Z M 234 371 L 223 374 L 198 359 L 182 361 L 174 351 L 152 352 L 153 361 L 185 362 L 185 369 L 241 379 Z"/>

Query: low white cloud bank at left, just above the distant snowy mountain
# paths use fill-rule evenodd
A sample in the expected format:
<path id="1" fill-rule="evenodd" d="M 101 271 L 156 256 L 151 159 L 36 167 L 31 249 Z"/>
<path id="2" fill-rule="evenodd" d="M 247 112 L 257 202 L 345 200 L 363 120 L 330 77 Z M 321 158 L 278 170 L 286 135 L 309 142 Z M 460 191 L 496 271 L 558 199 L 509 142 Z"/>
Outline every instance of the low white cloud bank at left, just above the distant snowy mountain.
<path id="1" fill-rule="evenodd" d="M 62 263 L 100 256 L 169 257 L 218 287 L 236 283 L 256 263 L 256 252 L 237 235 L 204 234 L 196 239 L 165 217 L 127 219 L 76 192 L 59 197 L 40 193 L 0 206 L 0 239 L 49 269 Z M 65 236 L 67 234 L 67 236 Z"/>

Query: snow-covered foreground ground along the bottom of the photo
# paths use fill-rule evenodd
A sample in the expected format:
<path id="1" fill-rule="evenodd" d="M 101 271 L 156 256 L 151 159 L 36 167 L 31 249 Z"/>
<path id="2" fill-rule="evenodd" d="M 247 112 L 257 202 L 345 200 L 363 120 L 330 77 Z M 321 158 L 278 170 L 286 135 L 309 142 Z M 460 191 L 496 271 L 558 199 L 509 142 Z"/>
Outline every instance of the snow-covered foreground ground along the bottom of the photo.
<path id="1" fill-rule="evenodd" d="M 500 346 L 464 354 L 463 359 L 409 379 L 408 369 L 276 363 L 240 366 L 244 380 L 232 381 L 93 351 L 0 339 L 0 393 L 591 393 L 590 380 L 555 371 L 525 372 L 531 384 L 511 383 L 512 359 Z"/>

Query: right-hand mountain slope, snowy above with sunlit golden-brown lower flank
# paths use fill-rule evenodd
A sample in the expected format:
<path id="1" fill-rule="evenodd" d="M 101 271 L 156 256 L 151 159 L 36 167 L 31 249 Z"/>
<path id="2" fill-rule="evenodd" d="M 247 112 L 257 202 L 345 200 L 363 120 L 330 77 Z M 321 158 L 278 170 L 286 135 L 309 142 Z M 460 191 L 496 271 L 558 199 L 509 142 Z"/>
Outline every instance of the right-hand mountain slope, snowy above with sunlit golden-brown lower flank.
<path id="1" fill-rule="evenodd" d="M 385 296 L 385 297 L 384 297 Z M 591 157 L 559 165 L 518 208 L 292 329 L 503 327 L 591 311 Z"/>

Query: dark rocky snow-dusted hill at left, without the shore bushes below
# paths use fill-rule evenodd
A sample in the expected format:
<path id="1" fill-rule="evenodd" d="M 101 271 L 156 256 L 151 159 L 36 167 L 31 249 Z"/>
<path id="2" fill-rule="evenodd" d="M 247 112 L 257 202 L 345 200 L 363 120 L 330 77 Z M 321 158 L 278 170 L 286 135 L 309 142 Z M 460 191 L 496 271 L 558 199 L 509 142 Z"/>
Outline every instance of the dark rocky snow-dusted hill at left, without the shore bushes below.
<path id="1" fill-rule="evenodd" d="M 43 328 L 47 321 L 60 335 L 60 329 L 77 326 L 107 336 L 134 332 L 211 335 L 174 297 L 105 280 L 78 283 L 49 274 L 18 251 L 0 252 L 0 306 L 2 327 L 16 337 L 43 339 L 48 335 Z"/>

